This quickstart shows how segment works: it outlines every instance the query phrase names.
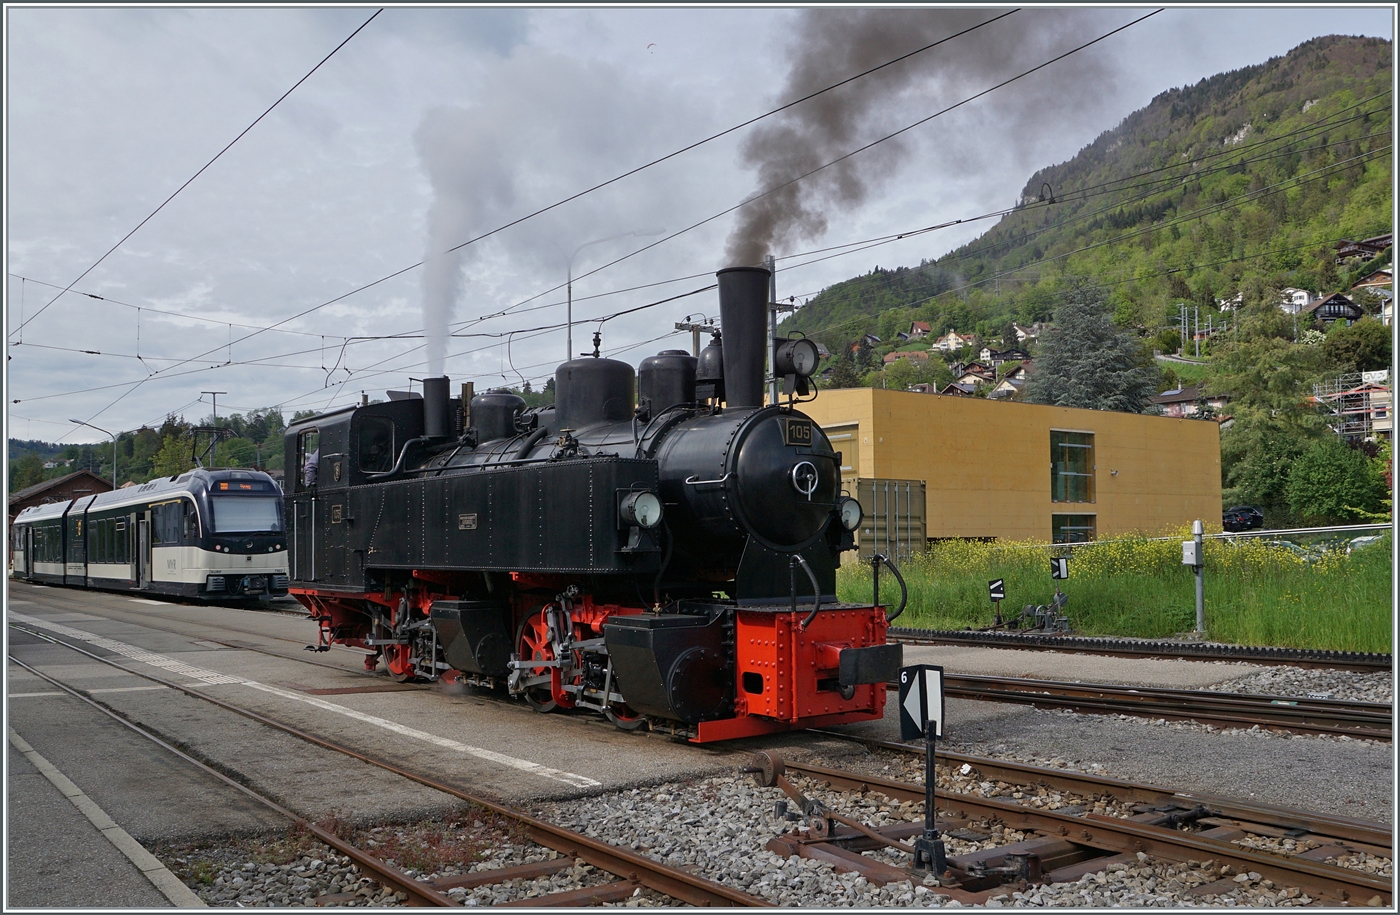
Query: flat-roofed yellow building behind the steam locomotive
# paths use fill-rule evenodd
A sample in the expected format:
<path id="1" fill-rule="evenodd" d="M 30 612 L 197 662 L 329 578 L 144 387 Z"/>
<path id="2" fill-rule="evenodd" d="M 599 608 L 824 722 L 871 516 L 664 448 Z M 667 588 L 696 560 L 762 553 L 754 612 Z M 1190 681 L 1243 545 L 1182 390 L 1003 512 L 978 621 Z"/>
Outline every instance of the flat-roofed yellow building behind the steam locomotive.
<path id="1" fill-rule="evenodd" d="M 802 410 L 841 452 L 841 478 L 923 480 L 927 536 L 1093 540 L 1194 519 L 1219 529 L 1212 421 L 874 388 Z"/>

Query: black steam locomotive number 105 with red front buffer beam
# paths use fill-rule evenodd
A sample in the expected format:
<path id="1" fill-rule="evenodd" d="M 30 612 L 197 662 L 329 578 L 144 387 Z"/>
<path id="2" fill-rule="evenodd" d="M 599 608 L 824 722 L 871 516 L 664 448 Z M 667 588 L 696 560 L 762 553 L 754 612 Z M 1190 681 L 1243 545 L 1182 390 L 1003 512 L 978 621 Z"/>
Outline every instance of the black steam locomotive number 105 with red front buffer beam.
<path id="1" fill-rule="evenodd" d="M 777 347 L 787 404 L 764 406 L 769 276 L 720 271 L 724 337 L 699 358 L 634 374 L 595 344 L 552 407 L 430 378 L 293 424 L 291 593 L 316 648 L 696 742 L 879 718 L 900 648 L 882 607 L 836 599 L 861 511 L 792 406 L 813 344 Z"/>

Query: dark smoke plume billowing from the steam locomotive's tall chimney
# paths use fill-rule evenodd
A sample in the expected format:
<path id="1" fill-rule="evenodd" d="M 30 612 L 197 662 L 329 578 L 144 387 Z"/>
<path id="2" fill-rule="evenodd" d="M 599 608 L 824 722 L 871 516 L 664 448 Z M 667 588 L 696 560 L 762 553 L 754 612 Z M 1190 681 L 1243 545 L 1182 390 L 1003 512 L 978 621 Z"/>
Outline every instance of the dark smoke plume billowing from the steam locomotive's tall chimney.
<path id="1" fill-rule="evenodd" d="M 923 45 L 997 17 L 997 10 L 805 10 L 794 32 L 791 69 L 778 99 L 832 85 Z M 1121 17 L 1117 17 L 1121 21 Z M 899 127 L 1047 60 L 1106 31 L 1105 15 L 1086 10 L 1015 13 L 906 62 L 802 102 L 763 122 L 741 147 L 762 193 Z M 1109 56 L 1100 48 L 1072 55 L 973 102 L 977 130 L 955 133 L 944 119 L 913 132 L 931 140 L 925 162 L 970 168 L 979 144 L 1021 146 L 1096 108 Z M 967 125 L 965 115 L 959 125 Z M 1007 130 L 1009 127 L 1009 133 Z M 725 264 L 756 264 L 826 232 L 834 214 L 850 213 L 895 175 L 914 148 L 911 136 L 888 140 L 850 159 L 767 194 L 739 210 Z M 949 180 L 958 180 L 956 173 Z M 1007 176 L 1018 189 L 1023 176 Z"/>

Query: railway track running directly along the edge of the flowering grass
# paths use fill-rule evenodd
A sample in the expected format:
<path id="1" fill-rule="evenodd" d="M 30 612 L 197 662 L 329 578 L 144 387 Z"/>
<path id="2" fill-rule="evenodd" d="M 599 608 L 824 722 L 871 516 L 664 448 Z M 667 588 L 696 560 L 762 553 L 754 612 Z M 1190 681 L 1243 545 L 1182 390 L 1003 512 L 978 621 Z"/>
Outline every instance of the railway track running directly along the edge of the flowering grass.
<path id="1" fill-rule="evenodd" d="M 1323 670 L 1379 673 L 1392 669 L 1390 655 L 1334 652 L 1303 648 L 1256 648 L 1212 642 L 1159 639 L 1091 638 L 1042 632 L 979 632 L 972 630 L 911 630 L 893 627 L 892 639 L 907 645 L 962 645 L 969 648 L 1014 648 L 1021 651 L 1070 652 L 1110 658 L 1173 660 L 1239 660 L 1252 665 L 1288 665 Z"/>

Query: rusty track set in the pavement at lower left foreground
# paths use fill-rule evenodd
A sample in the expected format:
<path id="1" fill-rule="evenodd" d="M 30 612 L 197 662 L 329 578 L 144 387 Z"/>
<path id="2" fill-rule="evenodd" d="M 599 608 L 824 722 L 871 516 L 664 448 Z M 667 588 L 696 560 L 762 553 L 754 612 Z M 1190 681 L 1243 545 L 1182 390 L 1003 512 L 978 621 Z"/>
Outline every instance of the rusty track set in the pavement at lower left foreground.
<path id="1" fill-rule="evenodd" d="M 300 740 L 305 740 L 307 743 L 315 744 L 318 747 L 323 747 L 326 750 L 333 750 L 333 751 L 344 754 L 347 757 L 360 760 L 361 762 L 367 762 L 370 765 L 374 765 L 374 767 L 378 767 L 378 768 L 385 769 L 388 772 L 392 772 L 395 775 L 399 775 L 400 778 L 406 778 L 409 781 L 417 782 L 417 783 L 424 785 L 427 788 L 431 788 L 434 790 L 442 792 L 444 795 L 448 795 L 448 796 L 452 796 L 452 797 L 458 797 L 459 800 L 465 800 L 465 802 L 468 802 L 470 804 L 475 804 L 476 807 L 480 807 L 480 809 L 487 810 L 490 813 L 494 813 L 494 814 L 497 814 L 500 817 L 504 817 L 505 820 L 510 820 L 532 842 L 540 845 L 542 848 L 559 852 L 560 855 L 564 856 L 560 860 L 535 862 L 535 863 L 522 865 L 519 867 L 504 867 L 504 869 L 486 870 L 486 872 L 473 872 L 470 874 L 462 874 L 462 876 L 456 876 L 456 877 L 445 877 L 445 879 L 441 879 L 441 880 L 430 880 L 430 881 L 417 880 L 417 879 L 414 879 L 414 877 L 403 873 L 398 867 L 393 867 L 388 862 L 384 862 L 384 860 L 381 860 L 381 859 L 378 859 L 378 858 L 375 858 L 375 856 L 364 852 L 363 849 L 356 848 L 354 845 L 346 842 L 344 839 L 342 839 L 340 837 L 335 835 L 333 832 L 330 832 L 328 830 L 323 830 L 323 828 L 321 828 L 319 825 L 316 825 L 314 823 L 309 823 L 304 817 L 301 817 L 297 813 L 288 810 L 287 807 L 276 803 L 270 797 L 263 796 L 262 793 L 256 792 L 255 789 L 252 789 L 252 788 L 249 788 L 246 785 L 242 785 L 242 783 L 234 781 L 232 778 L 230 778 L 230 776 L 218 772 L 213 767 L 210 767 L 210 765 L 207 765 L 207 764 L 196 760 L 195 757 L 192 757 L 192 756 L 189 756 L 189 754 L 178 750 L 176 747 L 171 746 L 169 743 L 167 743 L 161 737 L 158 737 L 158 736 L 153 735 L 151 732 L 143 729 L 140 725 L 127 721 L 126 718 L 123 718 L 122 715 L 119 715 L 118 712 L 109 709 L 108 707 L 105 707 L 104 704 L 92 700 L 88 695 L 84 695 L 81 691 L 70 687 L 69 684 L 64 684 L 64 683 L 59 681 L 57 679 L 55 679 L 55 677 L 43 673 L 42 670 L 38 670 L 34 666 L 24 663 L 22 660 L 17 659 L 14 655 L 10 655 L 10 662 L 11 663 L 15 663 L 15 665 L 24 667 L 29 673 L 32 673 L 32 674 L 38 676 L 39 679 L 50 683 L 56 688 L 60 688 L 64 693 L 67 693 L 67 694 L 70 694 L 70 695 L 81 700 L 83 702 L 85 702 L 85 704 L 91 705 L 92 708 L 101 711 L 104 715 L 108 715 L 109 718 L 120 722 L 123 726 L 134 730 L 136 733 L 141 735 L 143 737 L 146 737 L 146 739 L 154 742 L 155 744 L 164 747 L 167 751 L 169 751 L 169 753 L 181 757 L 182 760 L 190 762 L 192 765 L 199 767 L 200 769 L 203 769 L 209 775 L 220 779 L 221 782 L 224 782 L 227 785 L 231 785 L 232 788 L 238 789 L 244 795 L 248 795 L 249 797 L 253 797 L 255 800 L 258 800 L 259 803 L 267 806 L 269 809 L 276 810 L 277 813 L 283 814 L 291 823 L 294 823 L 294 824 L 300 825 L 301 828 L 307 830 L 308 832 L 311 832 L 312 835 L 315 835 L 319 841 L 325 842 L 328 846 L 330 846 L 330 848 L 336 849 L 339 853 L 350 858 L 356 865 L 360 866 L 361 872 L 364 872 L 367 874 L 372 874 L 372 877 L 377 881 L 379 881 L 382 886 L 388 886 L 388 887 L 395 888 L 398 893 L 403 893 L 406 895 L 407 901 L 410 904 L 413 904 L 413 905 L 440 905 L 440 907 L 441 905 L 458 905 L 458 902 L 455 900 L 452 900 L 451 897 L 445 895 L 447 890 L 454 888 L 454 887 L 472 888 L 472 887 L 477 887 L 477 886 L 484 886 L 484 884 L 491 884 L 491 883 L 504 883 L 504 881 L 517 880 L 517 879 L 536 879 L 536 877 L 542 877 L 542 876 L 549 876 L 552 873 L 559 873 L 561 870 L 568 869 L 570 866 L 573 866 L 574 859 L 581 859 L 581 860 L 587 862 L 588 865 L 596 867 L 598 870 L 602 870 L 602 872 L 606 872 L 609 874 L 613 874 L 617 879 L 613 880 L 612 883 L 606 883 L 606 884 L 602 884 L 602 886 L 581 887 L 578 890 L 573 890 L 573 891 L 567 891 L 567 893 L 560 893 L 560 894 L 554 894 L 554 895 L 547 895 L 547 897 L 532 897 L 532 898 L 528 898 L 528 900 L 522 900 L 518 904 L 519 905 L 529 905 L 529 907 L 566 907 L 566 908 L 578 907 L 578 905 L 594 905 L 594 904 L 599 904 L 599 902 L 619 901 L 619 900 L 627 898 L 627 897 L 633 895 L 633 893 L 637 890 L 637 887 L 647 887 L 650 890 L 654 890 L 657 893 L 661 893 L 664 895 L 668 895 L 671 898 L 679 900 L 679 901 L 690 904 L 690 905 L 721 905 L 721 907 L 757 907 L 757 905 L 767 905 L 766 901 L 759 900 L 757 897 L 749 895 L 746 893 L 742 893 L 739 890 L 734 890 L 731 887 L 725 887 L 722 884 L 706 880 L 703 877 L 697 877 L 697 876 L 694 876 L 694 874 L 692 874 L 692 873 L 689 873 L 686 870 L 679 870 L 679 869 L 675 869 L 675 867 L 668 867 L 666 865 L 664 865 L 661 862 L 657 862 L 657 860 L 652 860 L 651 858 L 647 858 L 644 855 L 634 853 L 634 852 L 631 852 L 629 849 L 624 849 L 624 848 L 616 848 L 616 846 L 609 845 L 606 842 L 602 842 L 602 841 L 589 838 L 587 835 L 582 835 L 581 832 L 577 832 L 577 831 L 573 831 L 573 830 L 567 830 L 564 827 L 554 825 L 552 823 L 547 823 L 547 821 L 540 820 L 538 817 L 532 817 L 532 816 L 529 816 L 529 814 L 526 814 L 524 811 L 515 810 L 515 809 L 508 807 L 505 804 L 496 803 L 496 802 L 493 802 L 493 800 L 490 800 L 487 797 L 482 797 L 482 796 L 473 795 L 470 792 L 466 792 L 466 790 L 463 790 L 461 788 L 456 788 L 454 785 L 448 785 L 448 783 L 444 783 L 441 781 L 437 781 L 437 779 L 420 775 L 417 772 L 412 772 L 412 771 L 405 769 L 405 768 L 402 768 L 399 765 L 395 765 L 393 762 L 388 762 L 388 761 L 381 760 L 378 757 L 374 757 L 371 754 L 361 753 L 358 750 L 351 749 L 351 747 L 335 743 L 332 740 L 326 740 L 323 737 L 318 737 L 315 735 L 307 733 L 307 732 L 300 730 L 297 728 L 293 728 L 290 725 L 284 725 L 284 723 L 281 723 L 279 721 L 267 718 L 266 715 L 262 715 L 262 714 L 255 712 L 252 709 L 246 709 L 246 708 L 238 707 L 238 705 L 235 705 L 232 702 L 228 702 L 225 700 L 220 700 L 217 697 L 209 695 L 207 693 L 203 693 L 203 691 L 196 690 L 193 687 L 189 687 L 189 686 L 185 686 L 185 684 L 181 684 L 181 683 L 175 683 L 172 680 L 167 680 L 167 679 L 158 677 L 155 674 L 144 673 L 144 672 L 140 672 L 140 670 L 133 670 L 132 667 L 127 667 L 126 665 L 116 663 L 116 662 L 113 662 L 113 660 L 111 660 L 108 658 L 102 658 L 99 655 L 95 655 L 95 653 L 92 653 L 90 651 L 85 651 L 83 648 L 78 648 L 76 645 L 70 645 L 69 642 L 64 642 L 64 641 L 57 639 L 57 638 L 53 638 L 53 637 L 50 637 L 50 635 L 48 635 L 45 632 L 41 632 L 41 631 L 36 631 L 36 630 L 32 630 L 32 628 L 28 628 L 28 627 L 24 627 L 24 625 L 18 625 L 18 624 L 14 624 L 14 623 L 11 623 L 10 625 L 14 627 L 18 631 L 22 631 L 22 632 L 28 634 L 28 635 L 32 635 L 35 638 L 43 639 L 43 641 L 50 642 L 53 645 L 60 645 L 60 646 L 67 648 L 70 651 L 74 651 L 74 652 L 77 652 L 80 655 L 84 655 L 84 656 L 87 656 L 90 659 L 92 659 L 92 660 L 97 660 L 99 663 L 108 665 L 111 667 L 116 667 L 118 670 L 122 670 L 122 672 L 129 673 L 132 676 L 141 677 L 143 680 L 148 680 L 151 683 L 157 683 L 157 684 L 160 684 L 162 687 L 167 687 L 167 688 L 171 688 L 171 690 L 178 690 L 178 691 L 183 693 L 185 695 L 202 700 L 202 701 L 209 702 L 211 705 L 217 705 L 218 708 L 227 709 L 230 712 L 234 712 L 237 715 L 248 718 L 251 721 L 255 721 L 255 722 L 259 722 L 262 725 L 266 725 L 269 728 L 274 728 L 274 729 L 277 729 L 280 732 L 284 732 L 284 733 L 288 733 L 288 735 L 291 735 L 291 736 L 294 736 L 294 737 L 297 737 Z M 326 902 L 336 902 L 336 901 L 340 901 L 340 900 L 326 900 Z M 347 901 L 349 901 L 349 897 L 347 897 Z"/>

